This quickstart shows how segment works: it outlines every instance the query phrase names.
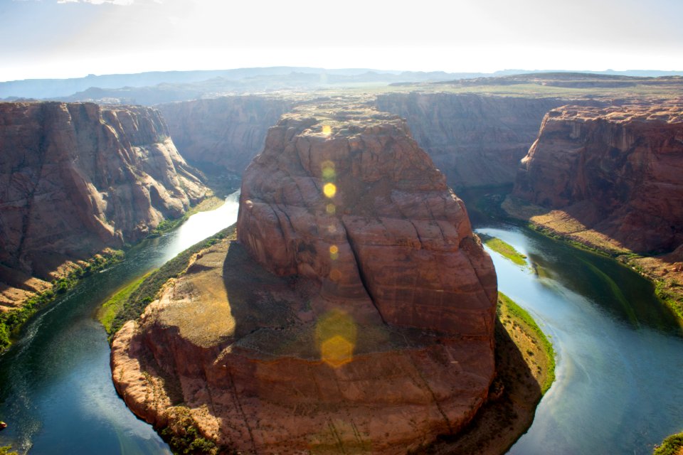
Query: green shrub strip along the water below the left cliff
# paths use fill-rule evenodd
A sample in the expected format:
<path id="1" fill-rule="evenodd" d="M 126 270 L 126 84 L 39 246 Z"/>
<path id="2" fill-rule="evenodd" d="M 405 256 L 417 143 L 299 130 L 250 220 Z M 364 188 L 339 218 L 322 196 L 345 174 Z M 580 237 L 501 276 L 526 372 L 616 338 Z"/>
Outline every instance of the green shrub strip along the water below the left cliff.
<path id="1" fill-rule="evenodd" d="M 83 266 L 71 270 L 66 277 L 55 279 L 52 282 L 52 289 L 27 299 L 21 308 L 0 314 L 0 353 L 11 346 L 23 324 L 38 310 L 63 296 L 66 291 L 75 287 L 81 278 L 105 269 L 115 262 L 120 262 L 123 257 L 124 253 L 120 250 L 106 250 L 101 255 L 95 255 Z"/>

